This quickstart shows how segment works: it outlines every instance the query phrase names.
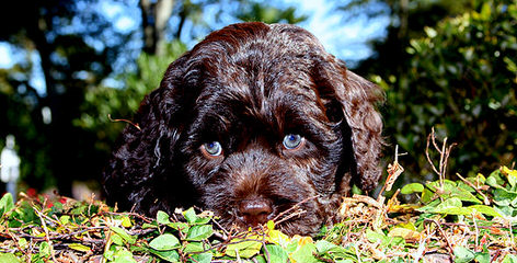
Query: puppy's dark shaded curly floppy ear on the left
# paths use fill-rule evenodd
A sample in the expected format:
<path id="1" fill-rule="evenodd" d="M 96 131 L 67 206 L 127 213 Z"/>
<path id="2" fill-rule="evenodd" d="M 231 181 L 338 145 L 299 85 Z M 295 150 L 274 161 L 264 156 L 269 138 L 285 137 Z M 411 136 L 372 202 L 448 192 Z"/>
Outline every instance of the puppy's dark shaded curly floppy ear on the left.
<path id="1" fill-rule="evenodd" d="M 168 210 L 182 203 L 174 196 L 185 196 L 182 193 L 189 191 L 185 179 L 173 171 L 177 170 L 173 169 L 174 149 L 184 123 L 181 112 L 189 99 L 183 78 L 186 57 L 171 64 L 160 87 L 143 99 L 135 125 L 124 129 L 105 168 L 107 201 L 117 203 L 120 209 L 146 214 Z M 169 196 L 173 192 L 174 196 Z"/>

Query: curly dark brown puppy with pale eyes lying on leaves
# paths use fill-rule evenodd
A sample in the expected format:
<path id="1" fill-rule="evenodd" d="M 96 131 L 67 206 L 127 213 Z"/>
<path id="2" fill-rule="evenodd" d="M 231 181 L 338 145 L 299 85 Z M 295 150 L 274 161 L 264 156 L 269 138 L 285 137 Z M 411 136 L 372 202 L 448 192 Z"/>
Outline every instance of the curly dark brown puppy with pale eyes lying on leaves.
<path id="1" fill-rule="evenodd" d="M 244 229 L 288 216 L 278 229 L 313 236 L 352 184 L 376 187 L 382 100 L 301 27 L 226 26 L 143 99 L 104 171 L 107 201 L 147 215 L 195 205 Z"/>

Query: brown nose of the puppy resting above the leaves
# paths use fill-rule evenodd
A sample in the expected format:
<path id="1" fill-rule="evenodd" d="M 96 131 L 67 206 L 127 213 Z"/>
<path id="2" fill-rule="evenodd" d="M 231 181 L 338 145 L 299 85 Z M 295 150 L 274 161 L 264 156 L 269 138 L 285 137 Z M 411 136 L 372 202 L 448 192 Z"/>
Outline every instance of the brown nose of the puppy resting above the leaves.
<path id="1" fill-rule="evenodd" d="M 245 199 L 239 205 L 241 219 L 250 226 L 257 226 L 268 220 L 273 208 L 265 199 Z"/>

